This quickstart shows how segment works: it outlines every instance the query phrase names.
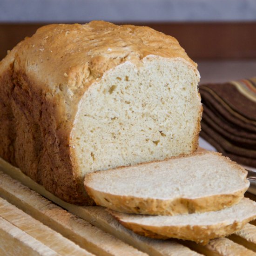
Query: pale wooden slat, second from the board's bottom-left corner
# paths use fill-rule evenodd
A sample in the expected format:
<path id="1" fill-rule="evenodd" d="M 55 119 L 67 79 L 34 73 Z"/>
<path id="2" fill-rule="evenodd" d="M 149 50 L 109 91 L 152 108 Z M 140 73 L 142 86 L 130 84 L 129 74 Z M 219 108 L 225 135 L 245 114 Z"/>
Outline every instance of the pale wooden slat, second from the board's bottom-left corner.
<path id="1" fill-rule="evenodd" d="M 2 198 L 0 198 L 0 217 L 60 255 L 93 255 Z"/>

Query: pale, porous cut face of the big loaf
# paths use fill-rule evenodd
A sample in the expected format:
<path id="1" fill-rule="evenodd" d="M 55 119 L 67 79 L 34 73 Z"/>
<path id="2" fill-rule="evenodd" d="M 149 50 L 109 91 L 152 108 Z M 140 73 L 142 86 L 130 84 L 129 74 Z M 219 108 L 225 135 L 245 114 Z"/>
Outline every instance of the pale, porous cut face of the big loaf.
<path id="1" fill-rule="evenodd" d="M 83 95 L 71 133 L 82 176 L 197 148 L 199 74 L 181 58 L 148 55 L 108 71 Z"/>

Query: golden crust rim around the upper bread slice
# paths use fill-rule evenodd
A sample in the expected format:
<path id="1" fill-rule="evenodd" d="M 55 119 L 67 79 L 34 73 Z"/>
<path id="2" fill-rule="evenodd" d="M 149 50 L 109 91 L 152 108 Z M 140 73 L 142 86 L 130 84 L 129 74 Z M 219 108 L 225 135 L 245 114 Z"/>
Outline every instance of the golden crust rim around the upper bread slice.
<path id="1" fill-rule="evenodd" d="M 196 155 L 205 155 L 207 152 L 196 153 Z M 211 154 L 222 156 L 221 153 L 212 152 Z M 187 157 L 186 155 L 179 158 Z M 176 159 L 171 157 L 169 159 Z M 208 211 L 216 211 L 237 204 L 243 198 L 244 193 L 249 187 L 249 182 L 246 180 L 247 172 L 236 162 L 232 162 L 228 157 L 222 156 L 232 167 L 239 169 L 244 174 L 244 188 L 230 194 L 219 194 L 212 196 L 202 196 L 200 198 L 175 198 L 171 200 L 161 200 L 155 198 L 140 198 L 129 195 L 116 195 L 106 193 L 93 188 L 90 185 L 90 177 L 94 174 L 86 175 L 84 185 L 85 189 L 94 199 L 97 205 L 113 209 L 115 211 L 131 213 L 131 214 L 146 214 L 146 215 L 165 215 L 174 216 L 179 214 L 202 213 Z M 154 161 L 157 162 L 157 161 Z M 144 163 L 140 164 L 143 165 Z M 146 163 L 147 164 L 147 163 Z M 107 170 L 108 172 L 111 170 Z"/>

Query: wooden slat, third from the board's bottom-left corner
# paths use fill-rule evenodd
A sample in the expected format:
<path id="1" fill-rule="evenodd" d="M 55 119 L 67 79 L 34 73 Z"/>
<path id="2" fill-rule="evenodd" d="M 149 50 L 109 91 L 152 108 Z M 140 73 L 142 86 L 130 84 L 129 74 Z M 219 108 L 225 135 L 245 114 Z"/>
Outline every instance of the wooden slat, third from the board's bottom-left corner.
<path id="1" fill-rule="evenodd" d="M 96 255 L 145 255 L 114 236 L 61 209 L 3 173 L 0 173 L 0 196 Z"/>

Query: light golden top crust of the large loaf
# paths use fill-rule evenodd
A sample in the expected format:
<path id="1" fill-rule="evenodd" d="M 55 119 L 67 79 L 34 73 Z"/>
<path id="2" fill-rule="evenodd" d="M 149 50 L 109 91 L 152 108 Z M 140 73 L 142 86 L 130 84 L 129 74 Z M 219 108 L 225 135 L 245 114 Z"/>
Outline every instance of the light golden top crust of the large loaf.
<path id="1" fill-rule="evenodd" d="M 188 62 L 199 76 L 197 65 L 174 37 L 150 27 L 105 21 L 40 27 L 9 54 L 15 55 L 15 68 L 48 92 L 48 97 L 65 98 L 67 119 L 74 116 L 74 103 L 93 82 L 126 61 L 139 64 L 152 54 L 178 58 Z"/>

